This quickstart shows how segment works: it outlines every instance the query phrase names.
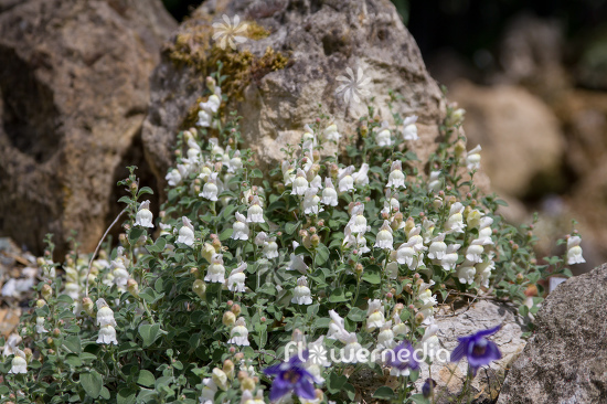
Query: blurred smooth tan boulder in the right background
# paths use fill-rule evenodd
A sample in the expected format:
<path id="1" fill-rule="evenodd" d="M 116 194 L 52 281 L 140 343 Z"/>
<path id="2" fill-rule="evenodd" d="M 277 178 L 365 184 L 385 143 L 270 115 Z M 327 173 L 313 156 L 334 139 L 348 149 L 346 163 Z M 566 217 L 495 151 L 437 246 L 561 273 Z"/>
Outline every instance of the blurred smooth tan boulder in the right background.
<path id="1" fill-rule="evenodd" d="M 454 85 L 449 97 L 466 109 L 468 143 L 481 145 L 492 188 L 521 198 L 557 180 L 565 138 L 540 98 L 520 86 L 480 87 L 468 82 Z"/>

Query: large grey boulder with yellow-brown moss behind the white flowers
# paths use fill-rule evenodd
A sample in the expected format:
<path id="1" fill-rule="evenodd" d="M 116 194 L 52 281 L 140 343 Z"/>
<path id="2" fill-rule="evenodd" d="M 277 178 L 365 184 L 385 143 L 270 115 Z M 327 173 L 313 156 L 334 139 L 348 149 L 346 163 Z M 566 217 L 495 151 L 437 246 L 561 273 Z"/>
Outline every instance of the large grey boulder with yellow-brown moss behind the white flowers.
<path id="1" fill-rule="evenodd" d="M 248 24 L 247 41 L 235 51 L 220 50 L 221 44 L 211 39 L 212 23 L 223 14 L 232 22 L 238 15 Z M 203 95 L 204 75 L 216 68 L 217 54 L 226 65 L 236 60 L 258 61 L 232 72 L 227 66 L 225 72 L 233 78 L 245 77 L 242 92 L 228 96 L 245 117 L 244 140 L 263 169 L 279 161 L 286 143 L 299 143 L 303 126 L 318 116 L 319 104 L 340 132 L 354 134 L 369 97 L 356 104 L 336 94 L 343 84 L 337 77 L 347 76 L 348 67 L 354 73 L 361 67 L 370 78 L 364 88 L 376 97 L 375 104 L 381 106 L 376 114 L 382 119 L 392 118 L 386 107 L 388 91 L 403 95 L 394 109 L 404 116 L 419 116 L 420 139 L 415 145 L 419 155 L 432 149 L 438 135 L 444 115 L 440 91 L 388 0 L 206 1 L 171 42 L 152 77 L 151 107 L 142 135 L 159 179 L 171 164 L 177 132 Z M 283 57 L 286 63 L 279 63 Z"/>

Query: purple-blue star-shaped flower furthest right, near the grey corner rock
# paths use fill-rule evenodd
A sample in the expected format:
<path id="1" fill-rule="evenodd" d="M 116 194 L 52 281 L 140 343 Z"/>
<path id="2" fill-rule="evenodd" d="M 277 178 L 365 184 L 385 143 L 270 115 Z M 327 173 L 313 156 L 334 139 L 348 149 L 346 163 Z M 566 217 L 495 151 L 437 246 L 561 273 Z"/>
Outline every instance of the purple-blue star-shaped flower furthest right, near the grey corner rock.
<path id="1" fill-rule="evenodd" d="M 451 362 L 457 362 L 461 358 L 468 358 L 468 365 L 473 376 L 477 375 L 477 370 L 486 364 L 491 363 L 502 357 L 496 342 L 487 340 L 484 337 L 491 336 L 500 329 L 501 326 L 476 332 L 468 337 L 460 337 L 459 345 L 451 352 Z"/>

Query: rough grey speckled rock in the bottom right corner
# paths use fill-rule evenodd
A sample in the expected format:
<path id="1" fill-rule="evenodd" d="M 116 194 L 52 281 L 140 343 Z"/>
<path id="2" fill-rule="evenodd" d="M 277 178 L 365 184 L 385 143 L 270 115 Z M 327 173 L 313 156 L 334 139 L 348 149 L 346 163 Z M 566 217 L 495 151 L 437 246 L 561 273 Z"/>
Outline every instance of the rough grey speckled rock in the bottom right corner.
<path id="1" fill-rule="evenodd" d="M 498 404 L 607 403 L 607 265 L 561 284 L 508 374 Z"/>

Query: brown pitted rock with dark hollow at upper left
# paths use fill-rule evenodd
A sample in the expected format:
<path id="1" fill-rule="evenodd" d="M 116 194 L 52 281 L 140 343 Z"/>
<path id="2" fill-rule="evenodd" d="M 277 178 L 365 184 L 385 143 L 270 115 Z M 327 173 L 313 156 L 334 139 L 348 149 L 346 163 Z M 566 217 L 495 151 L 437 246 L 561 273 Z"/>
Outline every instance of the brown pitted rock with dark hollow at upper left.
<path id="1" fill-rule="evenodd" d="M 160 0 L 2 2 L 0 232 L 40 252 L 75 230 L 95 247 L 117 178 L 142 161 L 149 75 L 173 29 Z"/>

